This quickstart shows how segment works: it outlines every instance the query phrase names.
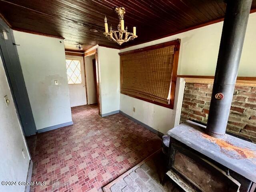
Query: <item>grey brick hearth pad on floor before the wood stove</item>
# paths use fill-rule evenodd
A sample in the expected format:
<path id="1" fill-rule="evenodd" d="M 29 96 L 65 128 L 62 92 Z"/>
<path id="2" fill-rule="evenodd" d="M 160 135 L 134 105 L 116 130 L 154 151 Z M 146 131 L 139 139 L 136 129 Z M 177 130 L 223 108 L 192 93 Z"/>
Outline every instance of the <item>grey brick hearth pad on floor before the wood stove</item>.
<path id="1" fill-rule="evenodd" d="M 104 192 L 182 192 L 170 180 L 161 184 L 166 157 L 161 150 L 104 186 Z"/>

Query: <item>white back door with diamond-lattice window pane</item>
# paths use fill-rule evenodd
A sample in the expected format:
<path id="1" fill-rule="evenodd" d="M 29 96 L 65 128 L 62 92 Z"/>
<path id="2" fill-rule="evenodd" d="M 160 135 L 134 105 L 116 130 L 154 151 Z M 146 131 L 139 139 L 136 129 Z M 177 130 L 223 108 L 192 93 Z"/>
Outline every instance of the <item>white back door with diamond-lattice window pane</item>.
<path id="1" fill-rule="evenodd" d="M 71 107 L 86 105 L 83 57 L 66 55 L 66 67 Z"/>

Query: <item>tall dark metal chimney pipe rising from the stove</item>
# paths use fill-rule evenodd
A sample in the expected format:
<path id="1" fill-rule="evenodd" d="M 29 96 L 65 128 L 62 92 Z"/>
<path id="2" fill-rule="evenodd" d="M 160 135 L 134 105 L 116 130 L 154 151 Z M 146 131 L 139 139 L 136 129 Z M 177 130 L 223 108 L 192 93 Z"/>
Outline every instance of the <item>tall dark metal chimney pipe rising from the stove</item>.
<path id="1" fill-rule="evenodd" d="M 228 124 L 252 0 L 227 0 L 206 132 L 222 138 Z"/>

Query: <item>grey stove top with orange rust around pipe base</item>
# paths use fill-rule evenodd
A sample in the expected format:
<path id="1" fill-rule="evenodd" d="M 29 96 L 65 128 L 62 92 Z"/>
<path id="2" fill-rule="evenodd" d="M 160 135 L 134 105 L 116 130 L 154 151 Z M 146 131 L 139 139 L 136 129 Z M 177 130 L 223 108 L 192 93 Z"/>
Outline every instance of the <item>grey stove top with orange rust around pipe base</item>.
<path id="1" fill-rule="evenodd" d="M 187 121 L 167 132 L 172 138 L 256 182 L 256 144 L 225 134 L 218 139 L 204 133 L 205 126 Z"/>

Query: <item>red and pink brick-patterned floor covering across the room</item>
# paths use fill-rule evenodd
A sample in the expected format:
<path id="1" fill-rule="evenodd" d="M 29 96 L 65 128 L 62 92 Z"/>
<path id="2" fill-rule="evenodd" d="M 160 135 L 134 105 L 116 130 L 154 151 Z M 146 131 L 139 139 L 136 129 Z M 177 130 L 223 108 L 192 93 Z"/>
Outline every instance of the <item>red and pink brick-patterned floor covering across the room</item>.
<path id="1" fill-rule="evenodd" d="M 32 181 L 46 186 L 32 186 L 32 192 L 102 191 L 161 147 L 156 134 L 121 114 L 101 118 L 93 105 L 72 108 L 72 119 L 72 126 L 33 138 Z"/>

